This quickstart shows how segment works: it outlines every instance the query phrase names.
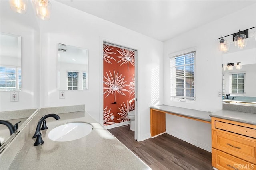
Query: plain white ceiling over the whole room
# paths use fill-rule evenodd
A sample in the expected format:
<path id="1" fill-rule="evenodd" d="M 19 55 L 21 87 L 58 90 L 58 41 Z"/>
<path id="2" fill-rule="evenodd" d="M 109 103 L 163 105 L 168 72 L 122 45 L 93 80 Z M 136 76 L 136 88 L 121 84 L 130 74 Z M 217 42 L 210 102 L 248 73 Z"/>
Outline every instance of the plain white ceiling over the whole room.
<path id="1" fill-rule="evenodd" d="M 255 0 L 57 0 L 159 41 L 242 9 Z"/>

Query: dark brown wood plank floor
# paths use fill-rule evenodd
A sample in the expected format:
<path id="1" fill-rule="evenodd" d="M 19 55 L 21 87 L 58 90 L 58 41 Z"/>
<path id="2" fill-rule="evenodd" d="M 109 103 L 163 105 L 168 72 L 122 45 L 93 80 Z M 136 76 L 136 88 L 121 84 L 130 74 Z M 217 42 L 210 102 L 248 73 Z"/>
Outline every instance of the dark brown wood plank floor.
<path id="1" fill-rule="evenodd" d="M 213 170 L 210 152 L 166 133 L 137 142 L 129 126 L 108 131 L 152 170 Z"/>

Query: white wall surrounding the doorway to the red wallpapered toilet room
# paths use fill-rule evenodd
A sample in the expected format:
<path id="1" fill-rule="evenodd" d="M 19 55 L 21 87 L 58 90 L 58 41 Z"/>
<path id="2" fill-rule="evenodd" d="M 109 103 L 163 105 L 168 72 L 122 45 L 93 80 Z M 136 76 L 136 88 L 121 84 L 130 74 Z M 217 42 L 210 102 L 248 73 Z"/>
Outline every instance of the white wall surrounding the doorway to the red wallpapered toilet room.
<path id="1" fill-rule="evenodd" d="M 85 104 L 86 111 L 97 121 L 100 121 L 100 113 L 103 114 L 103 109 L 100 109 L 100 100 L 103 98 L 103 89 L 100 88 L 103 80 L 103 70 L 100 68 L 103 63 L 101 40 L 108 39 L 138 49 L 138 140 L 150 137 L 149 104 L 153 70 L 160 82 L 157 88 L 161 98 L 158 96 L 156 101 L 163 103 L 162 42 L 55 1 L 52 1 L 50 20 L 41 22 L 41 37 L 40 107 Z M 65 99 L 59 99 L 57 90 L 57 43 L 88 49 L 88 90 L 67 90 Z"/>

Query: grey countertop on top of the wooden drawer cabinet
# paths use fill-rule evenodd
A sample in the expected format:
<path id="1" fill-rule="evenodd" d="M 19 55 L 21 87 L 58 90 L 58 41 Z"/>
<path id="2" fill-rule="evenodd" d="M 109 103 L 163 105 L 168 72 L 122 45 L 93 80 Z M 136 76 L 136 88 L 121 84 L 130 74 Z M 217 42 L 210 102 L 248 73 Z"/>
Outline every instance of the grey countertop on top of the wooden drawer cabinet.
<path id="1" fill-rule="evenodd" d="M 227 119 L 231 121 L 237 121 L 241 123 L 248 123 L 251 125 L 256 125 L 255 113 L 245 113 L 241 111 L 232 111 L 232 110 L 220 110 L 210 114 L 210 116 L 221 118 L 221 119 Z"/>

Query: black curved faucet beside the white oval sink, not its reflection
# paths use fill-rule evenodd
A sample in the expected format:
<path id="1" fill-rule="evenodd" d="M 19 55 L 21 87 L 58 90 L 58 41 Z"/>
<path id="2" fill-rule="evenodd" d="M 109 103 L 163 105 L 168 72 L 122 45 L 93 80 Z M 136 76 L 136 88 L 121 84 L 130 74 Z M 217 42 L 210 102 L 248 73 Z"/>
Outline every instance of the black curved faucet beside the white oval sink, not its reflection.
<path id="1" fill-rule="evenodd" d="M 41 137 L 41 132 L 40 132 L 40 127 L 42 125 L 42 122 L 44 121 L 44 119 L 48 118 L 48 117 L 53 117 L 55 120 L 58 120 L 60 119 L 60 116 L 56 115 L 56 114 L 48 114 L 48 115 L 45 115 L 43 116 L 39 121 L 38 121 L 38 124 L 36 126 L 36 132 L 33 136 L 33 138 L 36 137 L 36 142 L 34 143 L 34 146 L 37 146 L 37 145 L 41 145 L 44 143 L 44 141 L 42 140 L 42 137 Z"/>

